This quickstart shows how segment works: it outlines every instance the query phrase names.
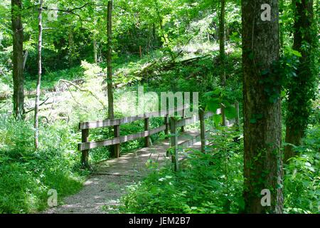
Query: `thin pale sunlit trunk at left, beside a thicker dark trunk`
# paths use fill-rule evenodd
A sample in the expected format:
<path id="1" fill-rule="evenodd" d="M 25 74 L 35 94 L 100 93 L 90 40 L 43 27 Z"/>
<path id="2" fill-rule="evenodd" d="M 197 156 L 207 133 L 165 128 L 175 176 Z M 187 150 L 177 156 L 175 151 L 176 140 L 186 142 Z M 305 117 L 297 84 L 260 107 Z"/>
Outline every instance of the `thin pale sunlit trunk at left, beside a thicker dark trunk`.
<path id="1" fill-rule="evenodd" d="M 40 86 L 41 86 L 41 75 L 42 75 L 42 63 L 41 63 L 41 51 L 42 51 L 42 11 L 43 11 L 43 0 L 40 0 L 39 6 L 39 14 L 38 14 L 38 81 L 37 81 L 37 88 L 36 88 L 36 105 L 34 108 L 34 145 L 36 150 L 39 147 L 39 104 L 40 104 Z"/>

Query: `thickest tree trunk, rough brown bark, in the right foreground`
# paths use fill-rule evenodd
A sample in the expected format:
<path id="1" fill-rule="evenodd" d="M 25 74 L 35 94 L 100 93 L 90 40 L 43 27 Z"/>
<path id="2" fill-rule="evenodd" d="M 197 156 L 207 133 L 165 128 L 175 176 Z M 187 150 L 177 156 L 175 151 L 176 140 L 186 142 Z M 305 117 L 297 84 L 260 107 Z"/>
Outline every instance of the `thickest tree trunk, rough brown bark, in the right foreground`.
<path id="1" fill-rule="evenodd" d="M 271 6 L 270 21 L 262 21 L 262 4 Z M 282 213 L 281 101 L 265 89 L 274 86 L 272 62 L 279 59 L 278 0 L 242 1 L 242 65 L 244 100 L 244 198 L 246 213 Z M 269 73 L 262 73 L 262 72 Z M 271 71 L 271 72 L 270 72 Z M 263 74 L 263 76 L 262 76 Z M 274 83 L 261 83 L 265 78 Z M 272 88 L 269 88 L 271 85 Z M 269 206 L 262 206 L 262 190 L 270 190 Z M 265 206 L 265 207 L 264 207 Z"/>

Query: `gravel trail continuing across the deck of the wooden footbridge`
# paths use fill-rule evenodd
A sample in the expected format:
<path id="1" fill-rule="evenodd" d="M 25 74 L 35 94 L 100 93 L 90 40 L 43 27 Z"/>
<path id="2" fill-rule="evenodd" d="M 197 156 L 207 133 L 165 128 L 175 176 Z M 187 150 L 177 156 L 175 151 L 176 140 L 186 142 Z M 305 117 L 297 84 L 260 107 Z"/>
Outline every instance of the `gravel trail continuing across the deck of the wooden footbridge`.
<path id="1" fill-rule="evenodd" d="M 200 131 L 186 131 L 178 137 L 181 159 L 184 150 L 201 149 L 198 142 Z M 84 183 L 76 195 L 65 197 L 63 205 L 48 209 L 46 214 L 108 214 L 118 213 L 119 199 L 124 195 L 126 187 L 138 182 L 150 170 L 159 169 L 171 162 L 166 157 L 170 146 L 169 139 L 154 143 L 151 147 L 130 152 L 122 157 L 100 162 L 95 172 Z M 155 165 L 155 166 L 154 166 Z M 149 168 L 152 166 L 152 168 Z"/>

